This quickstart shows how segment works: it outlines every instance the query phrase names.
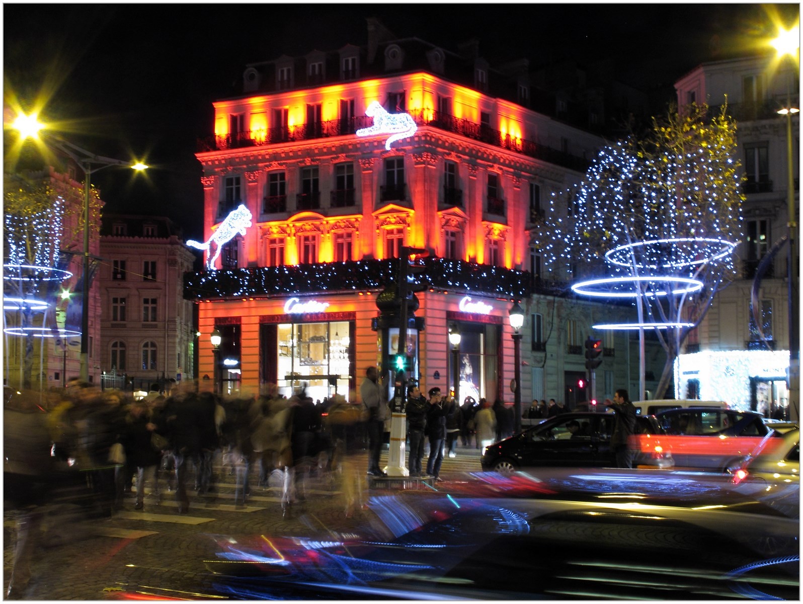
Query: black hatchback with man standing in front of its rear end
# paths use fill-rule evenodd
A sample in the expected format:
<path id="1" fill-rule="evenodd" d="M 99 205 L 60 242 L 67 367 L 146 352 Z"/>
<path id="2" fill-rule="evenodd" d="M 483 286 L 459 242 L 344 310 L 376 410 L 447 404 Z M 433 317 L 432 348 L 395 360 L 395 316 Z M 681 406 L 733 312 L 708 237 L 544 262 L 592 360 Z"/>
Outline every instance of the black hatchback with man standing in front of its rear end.
<path id="1" fill-rule="evenodd" d="M 523 467 L 616 467 L 610 437 L 616 414 L 573 412 L 557 415 L 485 448 L 483 470 L 510 472 Z M 668 468 L 674 464 L 664 451 L 662 430 L 655 418 L 637 416 L 631 447 L 638 467 Z"/>

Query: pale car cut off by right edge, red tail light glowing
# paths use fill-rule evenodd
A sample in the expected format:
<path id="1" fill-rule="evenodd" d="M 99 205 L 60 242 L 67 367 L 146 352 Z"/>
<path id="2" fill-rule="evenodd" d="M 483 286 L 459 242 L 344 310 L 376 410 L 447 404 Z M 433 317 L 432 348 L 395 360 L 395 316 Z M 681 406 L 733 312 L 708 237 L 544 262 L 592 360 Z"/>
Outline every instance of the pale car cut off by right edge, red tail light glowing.
<path id="1" fill-rule="evenodd" d="M 766 435 L 741 463 L 728 468 L 733 483 L 754 481 L 772 488 L 778 484 L 800 484 L 801 431 L 784 432 L 780 437 Z"/>

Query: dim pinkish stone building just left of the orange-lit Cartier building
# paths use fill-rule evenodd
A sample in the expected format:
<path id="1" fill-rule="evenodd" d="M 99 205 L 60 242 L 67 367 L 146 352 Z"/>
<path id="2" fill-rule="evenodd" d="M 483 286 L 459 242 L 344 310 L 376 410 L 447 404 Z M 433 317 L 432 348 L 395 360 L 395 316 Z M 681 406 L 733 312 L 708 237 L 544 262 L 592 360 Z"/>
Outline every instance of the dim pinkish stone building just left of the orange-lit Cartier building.
<path id="1" fill-rule="evenodd" d="M 104 214 L 97 271 L 104 387 L 149 390 L 194 377 L 194 308 L 182 276 L 194 254 L 164 217 Z"/>

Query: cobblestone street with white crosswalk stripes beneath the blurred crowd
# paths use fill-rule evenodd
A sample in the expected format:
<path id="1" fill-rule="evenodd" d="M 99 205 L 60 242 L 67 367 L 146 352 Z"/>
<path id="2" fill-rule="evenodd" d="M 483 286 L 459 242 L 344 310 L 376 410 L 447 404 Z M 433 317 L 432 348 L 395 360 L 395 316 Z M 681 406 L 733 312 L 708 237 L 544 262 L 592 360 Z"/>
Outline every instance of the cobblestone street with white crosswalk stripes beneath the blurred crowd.
<path id="1" fill-rule="evenodd" d="M 385 492 L 369 488 L 366 480 L 367 452 L 349 455 L 362 491 L 362 500 Z M 387 451 L 383 451 L 384 465 Z M 219 456 L 218 456 L 219 461 Z M 426 458 L 425 458 L 426 461 Z M 479 471 L 479 451 L 459 449 L 457 457 L 446 457 L 441 474 L 448 483 L 457 472 Z M 289 517 L 282 514 L 278 476 L 267 487 L 252 487 L 245 508 L 234 506 L 234 477 L 216 465 L 218 484 L 213 495 L 190 495 L 190 512 L 178 514 L 173 493 L 165 492 L 163 500 L 145 498 L 143 510 L 134 509 L 134 496 L 128 495 L 123 509 L 111 518 L 101 520 L 73 519 L 59 522 L 46 520 L 43 537 L 32 561 L 31 585 L 26 591 L 28 600 L 102 600 L 119 596 L 120 590 L 141 590 L 143 598 L 151 593 L 148 586 L 161 588 L 177 598 L 199 598 L 210 593 L 214 581 L 204 564 L 214 559 L 218 550 L 214 537 L 236 538 L 255 534 L 271 536 L 330 537 L 344 533 L 359 533 L 366 523 L 376 520 L 365 505 L 347 516 L 344 492 L 340 484 L 318 480 L 304 502 L 291 508 Z M 190 471 L 192 479 L 193 472 Z M 445 484 L 447 484 L 445 483 Z M 255 482 L 253 484 L 256 484 Z M 439 483 L 440 484 L 440 483 Z M 188 485 L 190 488 L 192 484 Z M 410 487 L 410 484 L 407 485 Z M 416 488 L 408 488 L 414 496 Z M 394 485 L 389 490 L 400 490 Z M 14 546 L 14 512 L 4 514 L 4 573 L 6 593 Z M 147 598 L 146 598 L 147 599 Z"/>

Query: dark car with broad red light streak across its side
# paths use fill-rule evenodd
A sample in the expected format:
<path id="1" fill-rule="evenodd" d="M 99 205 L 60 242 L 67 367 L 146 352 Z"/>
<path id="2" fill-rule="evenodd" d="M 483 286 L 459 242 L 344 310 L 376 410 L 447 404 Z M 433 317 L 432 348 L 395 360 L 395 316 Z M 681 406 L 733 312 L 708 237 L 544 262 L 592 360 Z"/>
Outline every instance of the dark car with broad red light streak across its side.
<path id="1" fill-rule="evenodd" d="M 690 407 L 655 415 L 665 432 L 662 445 L 671 451 L 675 467 L 728 471 L 774 432 L 760 414 L 735 409 Z"/>

